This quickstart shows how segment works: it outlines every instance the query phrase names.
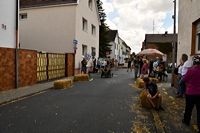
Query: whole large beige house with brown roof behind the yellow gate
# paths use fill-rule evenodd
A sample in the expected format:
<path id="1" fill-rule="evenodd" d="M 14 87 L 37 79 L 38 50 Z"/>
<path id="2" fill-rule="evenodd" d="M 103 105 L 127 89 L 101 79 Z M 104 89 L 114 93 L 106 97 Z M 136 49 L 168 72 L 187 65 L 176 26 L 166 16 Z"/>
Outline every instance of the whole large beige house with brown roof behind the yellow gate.
<path id="1" fill-rule="evenodd" d="M 75 74 L 85 54 L 99 55 L 96 0 L 39 0 L 20 5 L 20 48 L 38 52 L 74 53 Z M 92 59 L 88 67 L 92 66 Z"/>

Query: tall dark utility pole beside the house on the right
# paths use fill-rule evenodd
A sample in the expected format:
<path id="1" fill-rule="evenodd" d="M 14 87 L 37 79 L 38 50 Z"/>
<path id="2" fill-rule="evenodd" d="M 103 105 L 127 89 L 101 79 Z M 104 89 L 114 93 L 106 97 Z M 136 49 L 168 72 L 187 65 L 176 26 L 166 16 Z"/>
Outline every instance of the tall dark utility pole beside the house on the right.
<path id="1" fill-rule="evenodd" d="M 175 50 L 176 50 L 176 0 L 174 2 L 174 35 L 173 35 L 173 42 L 172 42 L 172 81 L 171 87 L 174 87 L 174 69 L 175 69 Z"/>

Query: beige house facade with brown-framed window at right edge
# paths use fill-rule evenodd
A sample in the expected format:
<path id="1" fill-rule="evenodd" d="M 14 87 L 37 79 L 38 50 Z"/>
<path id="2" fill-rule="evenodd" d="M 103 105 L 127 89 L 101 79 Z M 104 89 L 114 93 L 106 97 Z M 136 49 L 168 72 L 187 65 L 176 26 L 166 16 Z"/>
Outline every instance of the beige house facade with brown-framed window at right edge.
<path id="1" fill-rule="evenodd" d="M 182 54 L 200 55 L 200 1 L 179 0 L 177 63 Z"/>

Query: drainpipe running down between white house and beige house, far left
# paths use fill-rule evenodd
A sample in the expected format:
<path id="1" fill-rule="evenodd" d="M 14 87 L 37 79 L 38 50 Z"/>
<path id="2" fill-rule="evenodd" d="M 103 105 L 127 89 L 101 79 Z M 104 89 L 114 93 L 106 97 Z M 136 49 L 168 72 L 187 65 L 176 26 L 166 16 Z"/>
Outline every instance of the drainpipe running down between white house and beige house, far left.
<path id="1" fill-rule="evenodd" d="M 16 47 L 15 47 L 15 87 L 18 89 L 18 25 L 19 25 L 19 0 L 16 0 Z"/>

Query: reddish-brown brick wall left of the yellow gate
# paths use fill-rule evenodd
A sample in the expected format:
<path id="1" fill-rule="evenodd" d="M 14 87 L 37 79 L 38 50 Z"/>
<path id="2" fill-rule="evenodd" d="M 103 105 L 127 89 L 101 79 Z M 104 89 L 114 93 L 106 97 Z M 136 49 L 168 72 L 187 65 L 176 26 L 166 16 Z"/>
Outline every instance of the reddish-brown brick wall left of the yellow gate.
<path id="1" fill-rule="evenodd" d="M 19 87 L 37 83 L 37 51 L 19 49 Z M 15 49 L 0 48 L 0 91 L 15 87 Z"/>

